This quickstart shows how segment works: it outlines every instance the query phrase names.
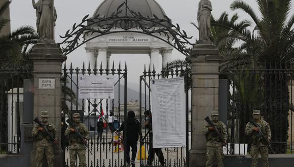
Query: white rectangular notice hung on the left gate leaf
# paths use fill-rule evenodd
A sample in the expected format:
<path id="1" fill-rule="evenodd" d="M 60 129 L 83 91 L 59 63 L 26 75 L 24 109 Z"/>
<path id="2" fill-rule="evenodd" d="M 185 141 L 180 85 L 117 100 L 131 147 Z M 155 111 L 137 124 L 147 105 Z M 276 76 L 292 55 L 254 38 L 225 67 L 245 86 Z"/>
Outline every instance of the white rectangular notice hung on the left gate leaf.
<path id="1" fill-rule="evenodd" d="M 79 76 L 80 99 L 114 99 L 114 76 Z"/>

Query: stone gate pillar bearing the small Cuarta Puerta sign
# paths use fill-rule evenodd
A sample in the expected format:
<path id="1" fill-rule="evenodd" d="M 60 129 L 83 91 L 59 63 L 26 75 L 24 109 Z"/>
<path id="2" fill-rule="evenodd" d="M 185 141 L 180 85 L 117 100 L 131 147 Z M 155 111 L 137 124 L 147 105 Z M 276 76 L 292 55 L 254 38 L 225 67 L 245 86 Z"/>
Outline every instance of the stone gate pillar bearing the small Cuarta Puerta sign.
<path id="1" fill-rule="evenodd" d="M 41 111 L 48 111 L 49 122 L 53 123 L 61 144 L 61 72 L 66 56 L 61 53 L 54 41 L 40 41 L 33 47 L 29 58 L 33 61 L 33 117 L 41 116 Z M 41 80 L 50 80 L 51 85 L 40 85 Z M 54 86 L 53 86 L 54 85 Z M 31 152 L 31 167 L 35 167 L 36 142 Z M 54 166 L 62 166 L 63 154 L 54 144 Z"/>

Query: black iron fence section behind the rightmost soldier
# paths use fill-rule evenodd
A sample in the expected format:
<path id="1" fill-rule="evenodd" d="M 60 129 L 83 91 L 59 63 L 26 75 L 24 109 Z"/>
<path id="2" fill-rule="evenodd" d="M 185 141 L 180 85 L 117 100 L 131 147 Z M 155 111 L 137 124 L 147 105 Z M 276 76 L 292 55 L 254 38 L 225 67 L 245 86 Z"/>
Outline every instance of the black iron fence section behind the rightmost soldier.
<path id="1" fill-rule="evenodd" d="M 260 109 L 262 119 L 269 122 L 274 151 L 294 153 L 294 69 L 290 65 L 264 66 L 243 65 L 220 74 L 228 80 L 228 146 L 232 154 L 250 151 L 245 126 L 253 109 Z"/>

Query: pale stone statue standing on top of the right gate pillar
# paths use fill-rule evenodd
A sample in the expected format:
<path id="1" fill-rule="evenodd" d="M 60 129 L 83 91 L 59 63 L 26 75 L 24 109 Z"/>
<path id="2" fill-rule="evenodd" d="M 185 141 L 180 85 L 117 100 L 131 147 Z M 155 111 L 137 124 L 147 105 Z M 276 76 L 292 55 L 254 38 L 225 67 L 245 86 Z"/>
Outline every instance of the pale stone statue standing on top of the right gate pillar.
<path id="1" fill-rule="evenodd" d="M 210 19 L 212 6 L 209 0 L 200 0 L 197 20 L 199 25 L 199 41 L 210 42 Z"/>

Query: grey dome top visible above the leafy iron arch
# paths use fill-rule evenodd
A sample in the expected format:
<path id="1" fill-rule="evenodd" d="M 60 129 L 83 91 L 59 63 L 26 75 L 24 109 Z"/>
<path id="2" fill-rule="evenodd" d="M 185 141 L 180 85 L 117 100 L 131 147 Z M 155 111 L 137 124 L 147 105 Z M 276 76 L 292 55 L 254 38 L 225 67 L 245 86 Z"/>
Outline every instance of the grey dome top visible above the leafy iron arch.
<path id="1" fill-rule="evenodd" d="M 93 17 L 97 16 L 98 14 L 100 17 L 109 17 L 114 12 L 116 12 L 117 8 L 124 2 L 125 0 L 105 0 L 96 9 Z M 153 15 L 156 15 L 158 18 L 164 18 L 165 15 L 165 12 L 155 0 L 128 0 L 128 7 L 134 12 L 140 12 L 143 17 L 153 17 Z M 119 14 L 119 16 L 125 16 L 124 9 L 125 6 L 121 8 L 123 11 Z M 128 16 L 131 16 L 129 11 Z"/>

